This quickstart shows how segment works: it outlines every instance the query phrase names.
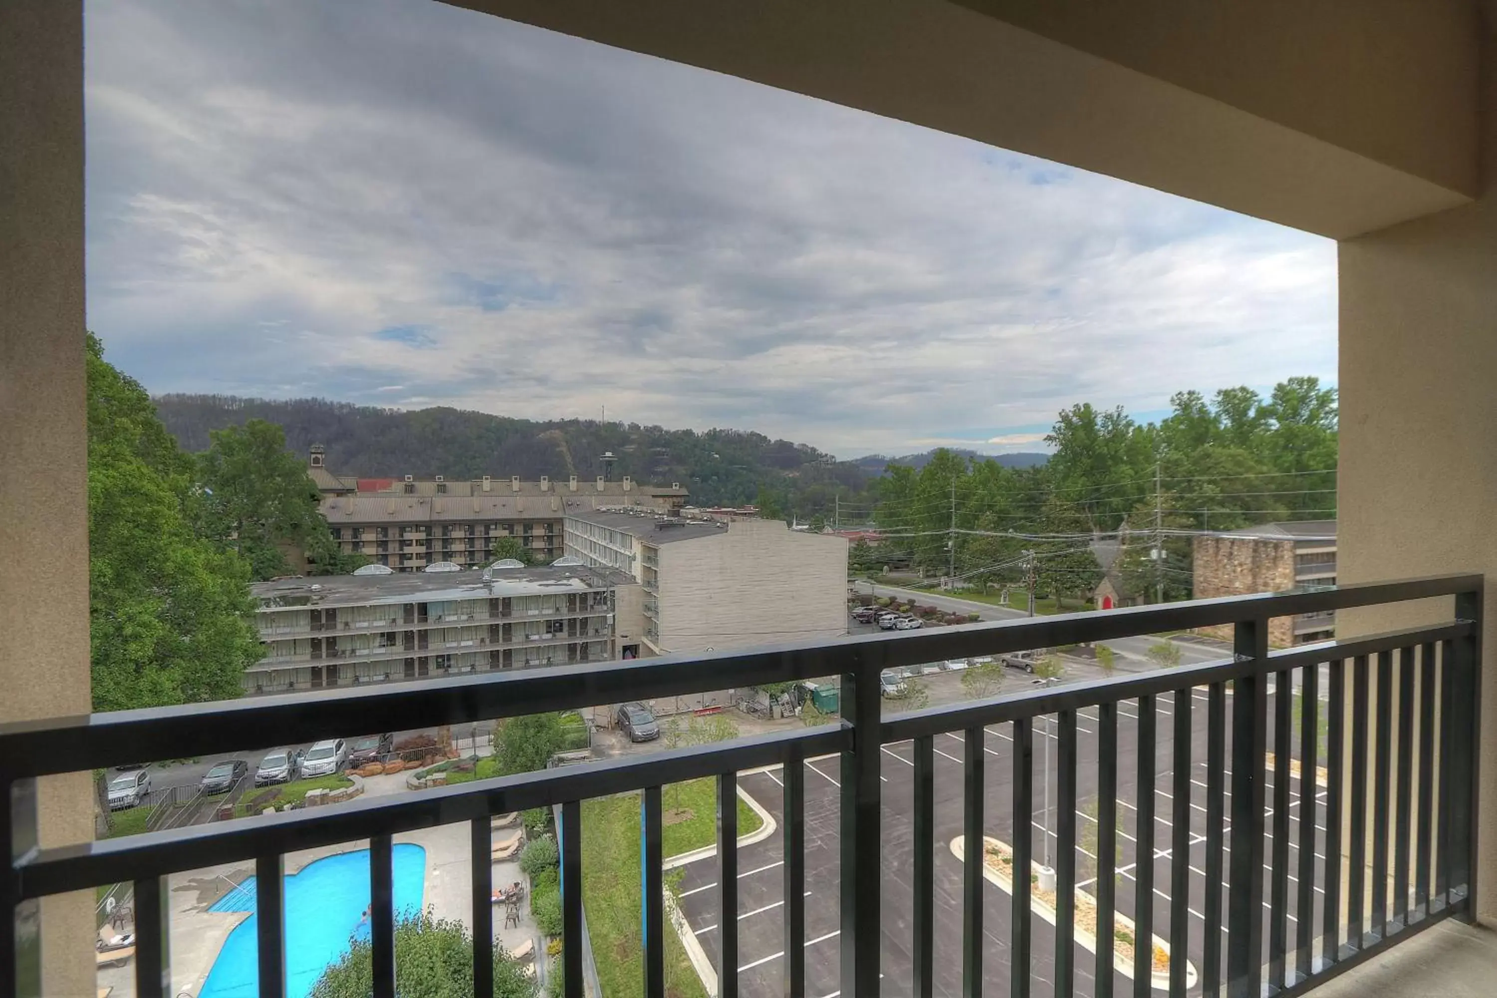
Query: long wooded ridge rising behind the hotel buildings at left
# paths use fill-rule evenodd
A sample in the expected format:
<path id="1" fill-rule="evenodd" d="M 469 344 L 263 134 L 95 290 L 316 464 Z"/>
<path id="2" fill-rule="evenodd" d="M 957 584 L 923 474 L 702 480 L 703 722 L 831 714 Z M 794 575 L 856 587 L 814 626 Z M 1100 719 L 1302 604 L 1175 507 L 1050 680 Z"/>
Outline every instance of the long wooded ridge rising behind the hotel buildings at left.
<path id="1" fill-rule="evenodd" d="M 403 411 L 319 398 L 269 401 L 232 395 L 162 395 L 156 410 L 186 450 L 204 450 L 208 432 L 250 419 L 278 423 L 287 446 L 305 453 L 328 449 L 328 467 L 361 477 L 484 474 L 537 479 L 542 474 L 591 479 L 602 455 L 618 462 L 614 476 L 669 485 L 680 482 L 704 504 L 751 503 L 777 497 L 787 513 L 831 515 L 832 497 L 862 494 L 870 474 L 828 453 L 789 440 L 740 429 L 666 429 L 594 419 L 534 422 L 457 408 Z"/>

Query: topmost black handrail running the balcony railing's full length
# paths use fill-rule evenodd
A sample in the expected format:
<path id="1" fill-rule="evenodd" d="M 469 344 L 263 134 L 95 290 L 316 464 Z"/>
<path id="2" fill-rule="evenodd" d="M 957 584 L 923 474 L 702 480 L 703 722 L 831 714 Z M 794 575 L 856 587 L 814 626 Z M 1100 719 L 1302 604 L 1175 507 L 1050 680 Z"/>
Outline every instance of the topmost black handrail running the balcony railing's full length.
<path id="1" fill-rule="evenodd" d="M 837 673 L 877 672 L 946 658 L 996 655 L 1076 642 L 1292 616 L 1322 609 L 1481 591 L 1482 576 L 1431 576 L 1105 612 L 1060 613 L 931 631 L 864 634 L 707 655 L 663 655 L 518 672 L 481 673 L 253 700 L 190 703 L 0 724 L 6 777 L 178 759 L 329 732 L 406 730 L 542 711 L 750 687 Z"/>

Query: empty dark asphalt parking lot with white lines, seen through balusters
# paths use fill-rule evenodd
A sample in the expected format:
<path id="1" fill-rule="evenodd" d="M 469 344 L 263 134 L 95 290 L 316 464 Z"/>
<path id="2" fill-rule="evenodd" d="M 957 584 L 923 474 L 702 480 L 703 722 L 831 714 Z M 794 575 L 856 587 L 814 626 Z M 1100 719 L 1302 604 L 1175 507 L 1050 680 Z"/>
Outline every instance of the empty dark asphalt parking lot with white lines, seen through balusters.
<path id="1" fill-rule="evenodd" d="M 1272 700 L 1272 697 L 1269 697 Z M 1189 896 L 1184 899 L 1189 917 L 1189 952 L 1192 967 L 1199 971 L 1204 946 L 1204 886 L 1205 886 L 1205 706 L 1207 694 L 1196 690 L 1190 696 L 1192 702 L 1192 756 L 1193 771 L 1190 774 L 1192 796 L 1189 800 L 1190 850 L 1186 862 L 1189 865 Z M 1231 706 L 1231 699 L 1228 700 Z M 1157 711 L 1157 780 L 1153 787 L 1156 818 L 1153 827 L 1151 848 L 1154 851 L 1154 890 L 1151 893 L 1151 908 L 1154 919 L 1154 935 L 1168 940 L 1171 913 L 1174 904 L 1169 896 L 1171 871 L 1177 857 L 1171 850 L 1174 830 L 1175 800 L 1172 787 L 1172 723 L 1174 697 L 1162 699 L 1156 703 Z M 1231 711 L 1228 711 L 1231 718 Z M 1082 711 L 1078 718 L 1078 884 L 1088 892 L 1096 890 L 1094 866 L 1091 860 L 1096 847 L 1096 815 L 1099 802 L 1096 799 L 1097 783 L 1097 738 L 1096 711 Z M 1118 839 L 1117 839 L 1117 910 L 1132 916 L 1136 893 L 1135 863 L 1139 854 L 1139 833 L 1136 829 L 1136 744 L 1138 744 L 1138 708 L 1133 702 L 1120 705 L 1118 717 Z M 1004 842 L 1012 842 L 1013 815 L 1010 808 L 1012 787 L 1012 735 L 1009 724 L 987 729 L 985 751 L 985 830 Z M 1051 745 L 1054 751 L 1055 733 L 1045 720 L 1036 723 L 1034 729 L 1034 859 L 1043 859 L 1043 836 L 1046 826 L 1045 808 L 1045 748 Z M 1269 745 L 1272 741 L 1269 738 Z M 963 821 L 963 774 L 961 762 L 966 745 L 961 735 L 942 735 L 936 738 L 936 863 L 934 863 L 934 893 L 936 893 L 936 992 L 961 994 L 961 944 L 963 944 L 963 860 L 951 850 L 952 839 L 961 835 Z M 1054 759 L 1051 760 L 1054 762 Z M 805 982 L 807 995 L 813 998 L 831 998 L 840 991 L 840 857 L 838 857 L 838 821 L 840 821 L 840 768 L 837 757 L 811 760 L 805 772 Z M 910 821 L 912 792 L 913 792 L 913 762 L 912 745 L 909 742 L 883 747 L 883 946 L 882 973 L 883 988 L 891 995 L 912 994 L 912 833 Z M 1051 793 L 1054 800 L 1054 775 L 1051 777 Z M 768 769 L 740 777 L 740 786 L 759 800 L 778 820 L 783 789 L 780 771 Z M 1289 823 L 1289 869 L 1298 869 L 1298 817 L 1302 800 L 1299 799 L 1298 780 L 1290 781 L 1290 823 Z M 1226 783 L 1226 806 L 1231 814 L 1231 777 Z M 1317 793 L 1317 805 L 1322 803 L 1323 792 Z M 1266 805 L 1272 806 L 1272 780 L 1269 774 Z M 1054 811 L 1051 809 L 1049 826 L 1054 829 Z M 1323 811 L 1311 811 L 1317 823 L 1316 832 L 1316 877 L 1320 877 L 1323 857 Z M 1052 848 L 1054 848 L 1054 839 Z M 1223 869 L 1228 862 L 1231 841 L 1223 844 Z M 1265 844 L 1265 856 L 1271 854 L 1271 844 Z M 738 974 L 740 988 L 750 998 L 775 998 L 783 994 L 783 847 L 778 833 L 768 836 L 762 842 L 747 845 L 740 850 L 740 952 Z M 717 925 L 720 913 L 716 890 L 716 859 L 707 857 L 689 863 L 680 886 L 681 908 L 687 929 L 696 943 L 701 944 L 707 959 L 714 968 L 720 968 Z M 1289 877 L 1289 919 L 1286 931 L 1287 947 L 1296 946 L 1296 892 L 1298 881 Z M 996 887 L 991 881 L 985 886 L 985 986 L 993 994 L 1006 994 L 1009 980 L 1009 895 Z M 1265 929 L 1266 946 L 1266 904 L 1269 887 L 1265 878 Z M 1316 887 L 1316 916 L 1313 925 L 1320 923 L 1319 902 L 1320 893 Z M 1231 899 L 1223 887 L 1223 920 L 1229 910 Z M 1036 995 L 1051 994 L 1051 976 L 1054 965 L 1055 934 L 1052 926 L 1037 913 L 1031 917 L 1033 946 L 1030 973 Z M 1225 932 L 1223 932 L 1225 940 Z M 1076 961 L 1076 994 L 1093 994 L 1093 973 L 1096 958 L 1091 952 L 1078 947 Z M 1292 956 L 1290 956 L 1292 964 Z M 1117 994 L 1127 994 L 1132 988 L 1121 973 L 1115 976 Z M 1192 988 L 1199 992 L 1199 985 Z"/>

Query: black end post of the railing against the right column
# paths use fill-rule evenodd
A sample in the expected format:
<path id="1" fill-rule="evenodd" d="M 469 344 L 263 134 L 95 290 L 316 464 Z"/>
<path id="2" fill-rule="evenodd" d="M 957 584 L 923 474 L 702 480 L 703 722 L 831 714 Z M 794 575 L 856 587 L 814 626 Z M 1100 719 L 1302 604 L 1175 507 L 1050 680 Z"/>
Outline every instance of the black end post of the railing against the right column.
<path id="1" fill-rule="evenodd" d="M 1454 798 L 1451 800 L 1451 881 L 1464 889 L 1466 920 L 1476 922 L 1476 844 L 1481 811 L 1481 696 L 1482 696 L 1482 594 L 1455 597 L 1455 618 L 1472 622 L 1472 633 L 1455 640 L 1455 711 L 1451 729 L 1455 736 L 1452 762 Z"/>

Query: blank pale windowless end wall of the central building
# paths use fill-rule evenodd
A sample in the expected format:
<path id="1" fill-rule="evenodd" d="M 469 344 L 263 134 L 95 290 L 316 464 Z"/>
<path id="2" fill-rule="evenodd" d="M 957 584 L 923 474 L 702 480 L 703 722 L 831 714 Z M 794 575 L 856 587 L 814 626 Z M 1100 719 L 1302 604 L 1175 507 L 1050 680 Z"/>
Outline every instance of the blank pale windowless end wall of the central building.
<path id="1" fill-rule="evenodd" d="M 847 540 L 738 521 L 660 545 L 660 642 L 672 652 L 847 633 Z"/>

